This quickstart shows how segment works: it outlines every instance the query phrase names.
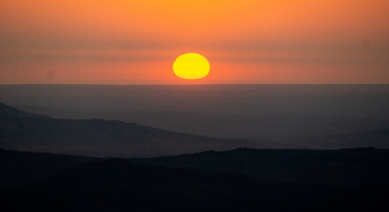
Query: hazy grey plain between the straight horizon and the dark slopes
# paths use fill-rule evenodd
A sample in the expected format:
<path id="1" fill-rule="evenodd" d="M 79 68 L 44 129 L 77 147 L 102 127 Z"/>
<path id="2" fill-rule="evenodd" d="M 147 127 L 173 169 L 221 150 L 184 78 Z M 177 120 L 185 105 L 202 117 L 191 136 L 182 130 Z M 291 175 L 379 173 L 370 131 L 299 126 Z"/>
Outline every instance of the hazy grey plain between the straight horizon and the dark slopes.
<path id="1" fill-rule="evenodd" d="M 317 140 L 307 138 L 389 128 L 389 85 L 20 85 L 0 86 L 0 101 L 52 117 L 308 147 Z"/>

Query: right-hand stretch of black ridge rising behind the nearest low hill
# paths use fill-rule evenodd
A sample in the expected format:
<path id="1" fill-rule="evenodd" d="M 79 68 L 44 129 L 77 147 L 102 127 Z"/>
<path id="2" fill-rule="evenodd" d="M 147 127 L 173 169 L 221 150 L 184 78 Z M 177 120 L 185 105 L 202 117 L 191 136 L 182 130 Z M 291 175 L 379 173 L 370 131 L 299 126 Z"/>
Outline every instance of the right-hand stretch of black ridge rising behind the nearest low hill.
<path id="1" fill-rule="evenodd" d="M 389 150 L 277 150 L 240 148 L 158 158 L 131 159 L 174 168 L 234 170 L 263 180 L 310 184 L 389 187 Z"/>

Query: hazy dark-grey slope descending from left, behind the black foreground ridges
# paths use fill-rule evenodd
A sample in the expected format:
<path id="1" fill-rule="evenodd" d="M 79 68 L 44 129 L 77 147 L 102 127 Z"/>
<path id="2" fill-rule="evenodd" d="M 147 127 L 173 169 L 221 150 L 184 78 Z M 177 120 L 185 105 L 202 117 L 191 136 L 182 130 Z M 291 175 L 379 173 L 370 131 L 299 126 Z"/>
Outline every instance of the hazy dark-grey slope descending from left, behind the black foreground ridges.
<path id="1" fill-rule="evenodd" d="M 0 113 L 4 114 L 15 109 L 4 106 L 0 110 L 4 110 Z M 18 116 L 13 116 L 15 114 Z M 225 140 L 174 133 L 121 121 L 55 119 L 26 114 L 19 111 L 0 116 L 0 148 L 126 157 L 179 155 L 242 147 L 291 148 L 263 140 Z"/>

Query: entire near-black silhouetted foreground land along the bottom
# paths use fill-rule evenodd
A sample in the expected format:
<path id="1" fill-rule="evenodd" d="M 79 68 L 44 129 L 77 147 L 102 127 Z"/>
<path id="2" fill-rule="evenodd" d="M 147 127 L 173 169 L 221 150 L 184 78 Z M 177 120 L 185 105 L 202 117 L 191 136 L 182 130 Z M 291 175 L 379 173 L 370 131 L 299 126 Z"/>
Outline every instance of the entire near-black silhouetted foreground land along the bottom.
<path id="1" fill-rule="evenodd" d="M 282 154 L 275 154 L 280 151 Z M 372 151 L 374 154 L 372 154 Z M 218 156 L 214 156 L 218 155 Z M 246 157 L 242 157 L 246 155 Z M 321 156 L 320 156 L 321 155 Z M 365 178 L 364 186 L 354 184 L 291 183 L 288 179 L 271 181 L 249 178 L 236 171 L 199 171 L 172 169 L 129 162 L 125 159 L 97 159 L 70 155 L 24 153 L 0 149 L 0 176 L 3 185 L 21 184 L 8 190 L 0 188 L 0 208 L 4 211 L 387 211 L 388 178 L 375 181 L 387 172 L 389 154 L 371 148 L 339 151 L 255 150 L 204 152 L 187 157 L 196 169 L 208 170 L 212 164 L 233 163 L 235 169 L 250 166 L 256 158 L 277 163 L 268 165 L 286 172 L 292 159 L 301 168 L 297 172 L 317 174 L 315 167 L 339 164 L 339 169 L 322 169 L 321 174 L 342 178 L 342 169 L 355 170 L 356 178 Z M 217 158 L 220 157 L 220 160 Z M 197 158 L 197 160 L 195 160 Z M 295 159 L 293 159 L 295 158 Z M 296 158 L 300 158 L 296 160 Z M 331 160 L 327 159 L 331 158 Z M 154 158 L 166 163 L 172 159 Z M 382 160 L 375 170 L 363 175 L 361 164 Z M 24 161 L 26 163 L 20 163 Z M 53 166 L 53 161 L 58 166 Z M 197 162 L 196 162 L 197 161 Z M 199 163 L 201 161 L 201 163 Z M 224 161 L 224 162 L 223 162 Z M 317 163 L 321 161 L 321 163 Z M 357 162 L 356 164 L 354 164 Z M 13 164 L 13 165 L 12 165 Z M 385 166 L 383 166 L 385 165 Z M 347 168 L 348 166 L 348 168 Z M 259 170 L 269 171 L 269 167 Z M 353 168 L 354 167 L 354 168 Z M 244 170 L 244 168 L 242 168 Z M 369 171 L 370 171 L 369 170 Z M 277 171 L 276 171 L 277 172 Z M 5 174 L 4 174 L 5 173 Z M 45 173 L 45 174 L 42 174 Z M 291 173 L 293 174 L 293 173 Z M 19 178 L 15 178 L 19 177 Z M 309 176 L 309 175 L 307 175 Z M 282 177 L 282 176 L 280 176 Z M 301 178 L 304 180 L 304 178 Z M 309 180 L 308 180 L 309 181 Z"/>

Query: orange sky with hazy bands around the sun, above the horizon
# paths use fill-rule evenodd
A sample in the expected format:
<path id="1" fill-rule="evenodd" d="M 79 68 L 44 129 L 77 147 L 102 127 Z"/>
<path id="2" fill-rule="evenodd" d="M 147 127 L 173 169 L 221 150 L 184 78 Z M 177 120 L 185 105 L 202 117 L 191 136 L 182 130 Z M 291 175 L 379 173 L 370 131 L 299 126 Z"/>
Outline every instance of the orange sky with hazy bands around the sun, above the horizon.
<path id="1" fill-rule="evenodd" d="M 389 83 L 387 0 L 3 0 L 0 83 Z"/>

